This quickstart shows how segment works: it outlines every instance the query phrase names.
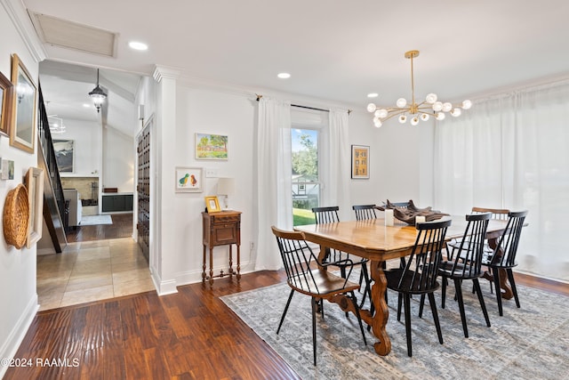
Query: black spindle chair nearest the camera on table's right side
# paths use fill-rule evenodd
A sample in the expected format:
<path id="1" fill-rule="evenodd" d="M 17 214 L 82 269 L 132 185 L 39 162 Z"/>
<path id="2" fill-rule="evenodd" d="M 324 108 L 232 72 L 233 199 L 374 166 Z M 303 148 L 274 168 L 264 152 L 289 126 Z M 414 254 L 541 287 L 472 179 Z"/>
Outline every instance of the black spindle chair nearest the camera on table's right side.
<path id="1" fill-rule="evenodd" d="M 405 303 L 405 335 L 407 355 L 413 356 L 411 342 L 411 295 L 428 295 L 430 308 L 437 327 L 438 342 L 443 344 L 443 334 L 438 321 L 434 292 L 439 287 L 438 268 L 445 247 L 446 230 L 452 220 L 417 223 L 417 238 L 405 267 L 385 271 L 388 288 L 398 293 L 397 320 L 401 320 L 401 301 Z"/>

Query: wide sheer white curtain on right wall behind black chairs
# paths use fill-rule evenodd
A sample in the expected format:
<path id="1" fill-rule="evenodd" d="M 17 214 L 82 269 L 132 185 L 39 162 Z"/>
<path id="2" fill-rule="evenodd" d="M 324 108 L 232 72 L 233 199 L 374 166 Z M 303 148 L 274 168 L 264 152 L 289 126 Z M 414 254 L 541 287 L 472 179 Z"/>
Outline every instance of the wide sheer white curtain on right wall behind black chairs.
<path id="1" fill-rule="evenodd" d="M 529 210 L 517 270 L 569 280 L 569 83 L 475 102 L 437 124 L 435 204 Z"/>

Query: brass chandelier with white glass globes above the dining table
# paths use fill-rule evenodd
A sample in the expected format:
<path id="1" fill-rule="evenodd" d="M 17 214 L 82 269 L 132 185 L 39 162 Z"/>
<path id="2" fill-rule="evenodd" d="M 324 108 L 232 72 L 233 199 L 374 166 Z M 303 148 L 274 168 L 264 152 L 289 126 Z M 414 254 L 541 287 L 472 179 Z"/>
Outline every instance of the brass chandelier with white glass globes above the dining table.
<path id="1" fill-rule="evenodd" d="M 367 110 L 373 112 L 373 125 L 380 127 L 384 121 L 391 117 L 397 117 L 399 123 L 404 124 L 407 118 L 411 118 L 411 125 L 418 125 L 419 121 L 427 121 L 429 117 L 435 117 L 437 120 L 444 120 L 445 114 L 449 112 L 453 117 L 461 116 L 461 109 L 469 109 L 472 107 L 471 101 L 462 101 L 461 105 L 453 105 L 450 102 L 437 100 L 437 94 L 429 93 L 424 101 L 417 103 L 415 101 L 415 84 L 413 77 L 413 58 L 419 56 L 418 50 L 411 50 L 405 53 L 405 58 L 411 60 L 411 103 L 407 103 L 405 98 L 397 99 L 397 107 L 377 107 L 370 103 Z"/>

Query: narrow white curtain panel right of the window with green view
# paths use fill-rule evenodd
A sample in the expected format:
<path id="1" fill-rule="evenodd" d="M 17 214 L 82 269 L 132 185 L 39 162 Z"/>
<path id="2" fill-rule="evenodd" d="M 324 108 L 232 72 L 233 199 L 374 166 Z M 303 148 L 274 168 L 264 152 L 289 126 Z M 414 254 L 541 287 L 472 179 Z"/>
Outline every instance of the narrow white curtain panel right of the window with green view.
<path id="1" fill-rule="evenodd" d="M 345 109 L 330 109 L 325 155 L 325 189 L 322 206 L 339 206 L 340 220 L 351 219 L 349 115 Z M 323 166 L 324 167 L 324 166 Z"/>

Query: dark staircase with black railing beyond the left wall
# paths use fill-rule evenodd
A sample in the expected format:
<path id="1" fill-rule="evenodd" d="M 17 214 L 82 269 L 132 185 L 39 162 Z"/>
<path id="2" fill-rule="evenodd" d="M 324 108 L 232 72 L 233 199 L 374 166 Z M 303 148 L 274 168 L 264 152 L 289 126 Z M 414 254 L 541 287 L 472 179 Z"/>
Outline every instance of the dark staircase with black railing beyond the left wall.
<path id="1" fill-rule="evenodd" d="M 44 221 L 52 239 L 55 252 L 60 254 L 67 247 L 65 232 L 67 225 L 67 207 L 63 197 L 60 171 L 57 167 L 55 150 L 53 150 L 52 133 L 45 112 L 42 86 L 39 85 L 39 108 L 37 117 L 39 141 L 37 149 L 37 166 L 44 170 Z"/>

